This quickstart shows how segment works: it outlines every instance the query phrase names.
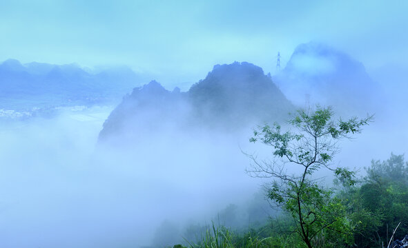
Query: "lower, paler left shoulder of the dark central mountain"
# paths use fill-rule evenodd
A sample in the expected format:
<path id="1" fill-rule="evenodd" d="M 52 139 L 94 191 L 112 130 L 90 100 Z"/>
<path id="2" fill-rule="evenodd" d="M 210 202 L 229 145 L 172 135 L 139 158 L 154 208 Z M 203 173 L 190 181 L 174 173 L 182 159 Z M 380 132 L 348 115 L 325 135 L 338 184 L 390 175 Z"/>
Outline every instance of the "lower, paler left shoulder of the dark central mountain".
<path id="1" fill-rule="evenodd" d="M 166 123 L 181 125 L 187 112 L 185 94 L 175 90 L 170 92 L 156 81 L 133 89 L 124 96 L 115 110 L 110 113 L 99 134 L 99 139 L 126 134 L 137 138 L 146 131 L 153 132 Z"/>

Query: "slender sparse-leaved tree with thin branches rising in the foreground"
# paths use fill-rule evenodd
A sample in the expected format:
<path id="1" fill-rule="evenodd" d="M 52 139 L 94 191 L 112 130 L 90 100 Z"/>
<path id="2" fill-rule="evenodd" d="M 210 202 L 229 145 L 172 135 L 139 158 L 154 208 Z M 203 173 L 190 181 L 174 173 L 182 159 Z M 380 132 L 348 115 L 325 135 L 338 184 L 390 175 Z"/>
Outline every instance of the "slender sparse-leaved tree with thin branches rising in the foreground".
<path id="1" fill-rule="evenodd" d="M 331 237 L 325 247 L 335 246 L 335 242 L 352 242 L 346 207 L 333 197 L 333 189 L 324 187 L 313 174 L 326 167 L 342 183 L 353 185 L 353 172 L 333 169 L 330 163 L 338 153 L 337 142 L 360 133 L 371 120 L 372 116 L 333 121 L 331 108 L 318 106 L 315 110 L 299 110 L 288 121 L 294 131 L 284 132 L 278 123 L 254 131 L 250 141 L 271 146 L 274 160 L 258 161 L 256 156 L 249 155 L 253 163 L 248 172 L 255 177 L 273 178 L 268 197 L 291 214 L 295 231 L 307 247 L 315 246 L 321 236 Z M 297 166 L 300 174 L 289 174 L 288 165 Z"/>

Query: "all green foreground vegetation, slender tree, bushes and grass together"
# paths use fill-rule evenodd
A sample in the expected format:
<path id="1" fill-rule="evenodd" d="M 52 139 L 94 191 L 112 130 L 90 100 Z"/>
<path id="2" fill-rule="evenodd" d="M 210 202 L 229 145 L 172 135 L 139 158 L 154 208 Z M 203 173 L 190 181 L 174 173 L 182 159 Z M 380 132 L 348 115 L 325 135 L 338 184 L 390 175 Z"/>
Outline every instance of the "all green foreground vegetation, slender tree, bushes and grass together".
<path id="1" fill-rule="evenodd" d="M 394 238 L 408 234 L 408 163 L 403 155 L 391 154 L 387 161 L 371 161 L 360 178 L 345 168 L 332 169 L 336 180 L 331 188 L 313 179 L 313 172 L 327 167 L 336 154 L 337 147 L 332 146 L 336 139 L 360 132 L 362 125 L 371 121 L 368 117 L 335 122 L 332 116 L 327 108 L 301 111 L 289 122 L 298 127 L 298 132 L 281 133 L 279 125 L 255 131 L 251 141 L 259 139 L 271 145 L 274 155 L 284 160 L 283 165 L 292 163 L 304 168 L 300 176 L 294 176 L 278 163 L 265 165 L 254 159 L 251 172 L 274 179 L 266 196 L 280 207 L 280 214 L 246 231 L 213 224 L 197 234 L 200 238 L 196 242 L 186 240 L 184 245 L 387 247 L 399 223 Z"/>

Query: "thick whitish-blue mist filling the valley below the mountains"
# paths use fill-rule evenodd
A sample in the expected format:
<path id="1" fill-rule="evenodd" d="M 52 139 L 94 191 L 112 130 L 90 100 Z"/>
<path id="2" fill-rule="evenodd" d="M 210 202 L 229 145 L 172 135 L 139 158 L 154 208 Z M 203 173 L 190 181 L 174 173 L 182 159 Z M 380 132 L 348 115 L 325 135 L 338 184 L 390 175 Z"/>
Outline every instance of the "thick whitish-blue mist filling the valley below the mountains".
<path id="1" fill-rule="evenodd" d="M 2 246 L 148 246 L 165 221 L 175 223 L 173 241 L 182 242 L 188 223 L 208 225 L 229 204 L 249 205 L 259 191 L 259 182 L 244 173 L 240 150 L 250 129 L 184 134 L 164 128 L 126 149 L 97 145 L 111 109 L 2 125 Z M 249 225 L 248 216 L 240 219 Z"/>

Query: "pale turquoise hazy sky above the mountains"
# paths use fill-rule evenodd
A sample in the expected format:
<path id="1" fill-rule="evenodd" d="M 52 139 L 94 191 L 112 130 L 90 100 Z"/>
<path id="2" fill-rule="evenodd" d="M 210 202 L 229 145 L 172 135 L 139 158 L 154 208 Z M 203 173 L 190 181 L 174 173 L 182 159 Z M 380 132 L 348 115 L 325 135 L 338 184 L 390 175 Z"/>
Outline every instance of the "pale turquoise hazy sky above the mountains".
<path id="1" fill-rule="evenodd" d="M 402 0 L 0 0 L 0 61 L 122 64 L 182 83 L 233 61 L 273 72 L 278 51 L 285 62 L 322 41 L 376 68 L 405 63 L 407 11 Z"/>

